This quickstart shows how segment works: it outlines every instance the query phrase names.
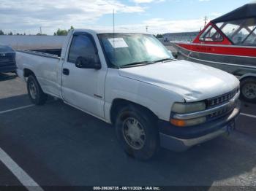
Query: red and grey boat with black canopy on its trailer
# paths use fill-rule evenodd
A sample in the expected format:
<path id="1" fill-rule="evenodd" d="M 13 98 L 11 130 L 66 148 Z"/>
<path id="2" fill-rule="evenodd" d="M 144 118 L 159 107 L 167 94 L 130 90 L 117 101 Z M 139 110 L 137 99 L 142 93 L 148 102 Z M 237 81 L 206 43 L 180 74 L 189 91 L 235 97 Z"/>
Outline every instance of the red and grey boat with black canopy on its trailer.
<path id="1" fill-rule="evenodd" d="M 177 58 L 227 71 L 241 81 L 241 98 L 256 103 L 256 3 L 211 20 L 193 42 L 171 42 Z"/>

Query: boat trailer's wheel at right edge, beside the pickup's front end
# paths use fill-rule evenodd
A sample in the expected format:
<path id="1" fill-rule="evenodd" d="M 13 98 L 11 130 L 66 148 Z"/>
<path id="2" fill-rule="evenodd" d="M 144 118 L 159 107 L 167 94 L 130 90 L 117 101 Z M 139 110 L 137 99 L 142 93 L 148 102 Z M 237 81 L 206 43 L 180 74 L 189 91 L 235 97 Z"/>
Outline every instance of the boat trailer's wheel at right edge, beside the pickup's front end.
<path id="1" fill-rule="evenodd" d="M 256 78 L 248 77 L 240 83 L 241 99 L 250 103 L 256 103 Z"/>

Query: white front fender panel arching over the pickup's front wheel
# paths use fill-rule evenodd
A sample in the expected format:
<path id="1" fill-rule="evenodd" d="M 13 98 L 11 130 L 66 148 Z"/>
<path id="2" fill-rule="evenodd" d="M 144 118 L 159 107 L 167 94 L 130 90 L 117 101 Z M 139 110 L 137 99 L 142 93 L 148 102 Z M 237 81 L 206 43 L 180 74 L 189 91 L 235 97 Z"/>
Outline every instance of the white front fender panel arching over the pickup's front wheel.
<path id="1" fill-rule="evenodd" d="M 108 71 L 105 83 L 105 118 L 110 121 L 110 109 L 116 98 L 131 101 L 151 110 L 159 119 L 170 120 L 174 102 L 184 102 L 181 95 L 172 93 L 157 85 L 121 77 L 115 71 Z"/>

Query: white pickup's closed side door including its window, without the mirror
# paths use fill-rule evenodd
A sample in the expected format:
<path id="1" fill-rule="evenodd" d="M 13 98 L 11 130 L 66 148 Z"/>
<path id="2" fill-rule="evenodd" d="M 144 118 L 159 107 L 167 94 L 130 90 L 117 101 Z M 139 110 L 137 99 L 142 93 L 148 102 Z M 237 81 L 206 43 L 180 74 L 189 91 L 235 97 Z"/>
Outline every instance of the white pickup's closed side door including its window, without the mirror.
<path id="1" fill-rule="evenodd" d="M 79 58 L 100 64 L 97 46 L 91 34 L 73 34 L 68 55 L 62 66 L 61 95 L 67 104 L 104 118 L 106 69 L 86 69 Z"/>

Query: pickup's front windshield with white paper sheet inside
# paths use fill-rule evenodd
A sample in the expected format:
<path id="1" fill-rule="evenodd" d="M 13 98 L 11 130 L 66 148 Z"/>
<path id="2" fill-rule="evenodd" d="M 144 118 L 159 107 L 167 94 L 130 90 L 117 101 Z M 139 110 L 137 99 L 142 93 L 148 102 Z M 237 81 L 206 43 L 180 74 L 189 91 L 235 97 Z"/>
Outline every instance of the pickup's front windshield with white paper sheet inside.
<path id="1" fill-rule="evenodd" d="M 99 34 L 108 62 L 122 67 L 132 63 L 154 63 L 173 59 L 157 38 L 149 34 Z"/>

